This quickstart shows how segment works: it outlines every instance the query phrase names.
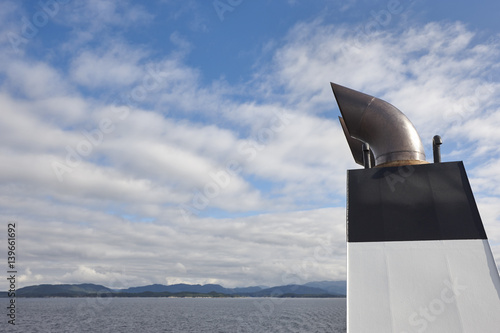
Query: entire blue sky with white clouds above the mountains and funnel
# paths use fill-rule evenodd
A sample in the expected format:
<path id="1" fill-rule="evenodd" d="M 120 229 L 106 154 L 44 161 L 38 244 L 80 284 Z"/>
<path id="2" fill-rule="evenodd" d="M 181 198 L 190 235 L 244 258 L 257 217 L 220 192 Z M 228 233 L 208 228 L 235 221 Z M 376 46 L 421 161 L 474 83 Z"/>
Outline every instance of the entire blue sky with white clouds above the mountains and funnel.
<path id="1" fill-rule="evenodd" d="M 500 3 L 0 1 L 17 287 L 346 279 L 335 82 L 464 161 L 500 264 Z M 8 289 L 0 281 L 0 290 Z"/>

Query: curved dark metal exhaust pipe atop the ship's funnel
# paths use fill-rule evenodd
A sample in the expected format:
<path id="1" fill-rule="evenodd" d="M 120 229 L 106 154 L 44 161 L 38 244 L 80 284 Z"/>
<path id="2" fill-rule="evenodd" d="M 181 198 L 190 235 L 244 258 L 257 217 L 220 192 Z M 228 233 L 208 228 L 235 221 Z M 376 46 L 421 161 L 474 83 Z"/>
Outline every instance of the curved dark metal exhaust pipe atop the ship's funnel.
<path id="1" fill-rule="evenodd" d="M 346 137 L 349 135 L 368 143 L 375 166 L 427 163 L 420 136 L 401 111 L 373 96 L 335 83 L 331 85 L 343 117 L 341 124 L 343 122 L 345 126 Z M 349 137 L 347 139 L 350 142 Z M 353 146 L 350 147 L 352 150 Z M 352 153 L 353 156 L 360 154 Z"/>

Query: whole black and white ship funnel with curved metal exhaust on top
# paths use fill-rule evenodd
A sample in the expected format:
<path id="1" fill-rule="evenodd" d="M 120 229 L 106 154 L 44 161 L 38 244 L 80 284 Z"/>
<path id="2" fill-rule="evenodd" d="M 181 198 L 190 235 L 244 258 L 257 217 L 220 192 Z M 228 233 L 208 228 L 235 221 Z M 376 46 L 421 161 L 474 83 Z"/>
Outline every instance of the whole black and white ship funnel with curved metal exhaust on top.
<path id="1" fill-rule="evenodd" d="M 441 161 L 439 136 L 425 162 L 401 111 L 331 85 L 364 165 L 347 171 L 347 333 L 499 332 L 500 276 L 464 164 Z"/>

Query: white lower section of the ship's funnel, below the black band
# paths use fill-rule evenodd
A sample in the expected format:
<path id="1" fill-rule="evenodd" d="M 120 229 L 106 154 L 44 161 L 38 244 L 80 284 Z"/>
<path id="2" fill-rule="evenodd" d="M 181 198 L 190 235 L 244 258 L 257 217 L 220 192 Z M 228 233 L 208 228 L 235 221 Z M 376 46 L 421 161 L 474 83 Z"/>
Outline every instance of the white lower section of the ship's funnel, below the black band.
<path id="1" fill-rule="evenodd" d="M 498 333 L 487 240 L 347 244 L 349 333 Z"/>

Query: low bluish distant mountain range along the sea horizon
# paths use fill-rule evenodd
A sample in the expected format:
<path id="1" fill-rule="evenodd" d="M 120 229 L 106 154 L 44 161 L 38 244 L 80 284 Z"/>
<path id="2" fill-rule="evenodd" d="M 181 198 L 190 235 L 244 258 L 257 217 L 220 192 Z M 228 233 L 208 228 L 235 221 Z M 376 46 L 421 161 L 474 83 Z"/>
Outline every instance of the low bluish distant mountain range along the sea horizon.
<path id="1" fill-rule="evenodd" d="M 112 290 L 96 284 L 42 284 L 20 288 L 19 297 L 344 297 L 345 281 L 310 282 L 305 285 L 286 285 L 272 288 L 242 287 L 224 288 L 218 284 L 191 285 L 153 284 L 142 287 Z M 6 297 L 0 293 L 0 297 Z"/>

